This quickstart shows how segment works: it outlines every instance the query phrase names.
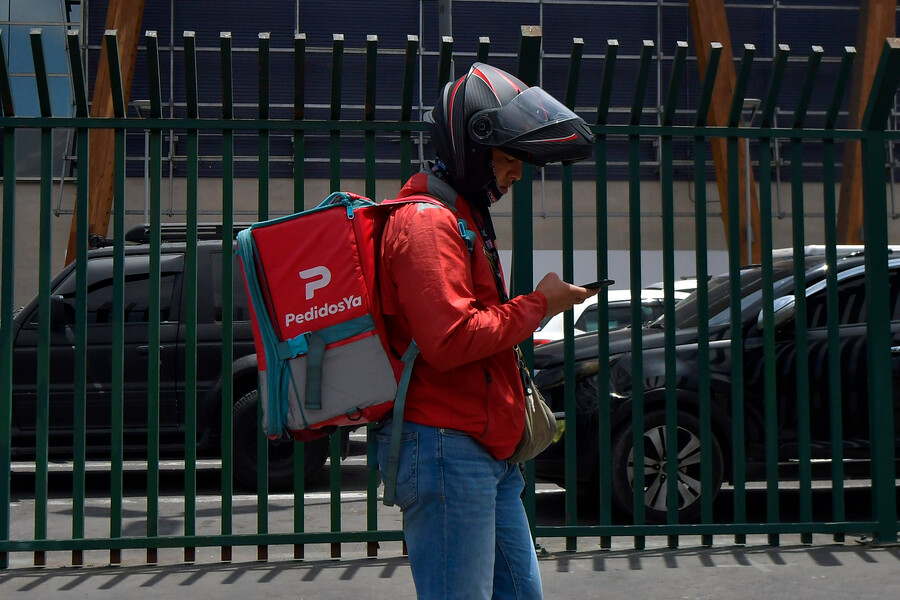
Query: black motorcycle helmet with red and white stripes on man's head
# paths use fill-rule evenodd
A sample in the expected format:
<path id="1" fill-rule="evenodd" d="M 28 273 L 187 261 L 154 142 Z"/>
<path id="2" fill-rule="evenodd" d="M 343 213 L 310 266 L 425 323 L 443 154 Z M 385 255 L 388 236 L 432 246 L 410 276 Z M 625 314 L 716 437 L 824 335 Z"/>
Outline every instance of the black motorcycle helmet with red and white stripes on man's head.
<path id="1" fill-rule="evenodd" d="M 581 117 L 541 88 L 484 63 L 445 85 L 425 122 L 450 183 L 470 200 L 494 184 L 492 147 L 539 167 L 571 164 L 593 151 L 594 136 Z"/>

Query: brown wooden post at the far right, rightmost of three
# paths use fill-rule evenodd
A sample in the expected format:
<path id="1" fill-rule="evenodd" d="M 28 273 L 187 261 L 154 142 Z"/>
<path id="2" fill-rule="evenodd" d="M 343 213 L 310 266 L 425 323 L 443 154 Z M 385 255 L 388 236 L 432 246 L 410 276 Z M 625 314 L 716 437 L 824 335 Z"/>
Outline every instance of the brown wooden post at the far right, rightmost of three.
<path id="1" fill-rule="evenodd" d="M 847 108 L 847 128 L 858 129 L 869 100 L 884 39 L 893 37 L 897 0 L 860 0 L 856 32 L 858 58 Z M 838 201 L 837 243 L 861 244 L 863 222 L 862 153 L 859 142 L 844 144 L 844 168 Z"/>

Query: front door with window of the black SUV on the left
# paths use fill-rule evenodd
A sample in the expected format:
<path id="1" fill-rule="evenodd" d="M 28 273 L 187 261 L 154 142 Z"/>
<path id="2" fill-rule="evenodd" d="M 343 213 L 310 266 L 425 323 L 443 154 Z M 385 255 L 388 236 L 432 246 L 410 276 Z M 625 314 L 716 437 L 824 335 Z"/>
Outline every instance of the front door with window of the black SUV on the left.
<path id="1" fill-rule="evenodd" d="M 183 264 L 181 255 L 163 257 L 160 276 L 161 339 L 177 336 L 177 302 L 175 293 L 177 275 Z M 128 255 L 124 276 L 124 363 L 123 414 L 126 435 L 128 432 L 145 431 L 148 407 L 149 356 L 149 256 Z M 51 368 L 46 374 L 50 387 L 49 423 L 52 441 L 67 446 L 74 428 L 75 405 L 75 309 L 76 274 L 73 270 L 51 292 L 55 302 L 63 305 L 62 322 L 54 323 L 50 336 Z M 88 445 L 107 445 L 108 431 L 112 423 L 112 336 L 113 336 L 113 259 L 111 256 L 91 257 L 88 263 L 87 282 L 87 339 L 86 339 L 86 429 Z M 38 342 L 38 311 L 35 309 L 16 340 L 17 364 L 34 361 L 36 364 Z M 160 415 L 162 426 L 175 422 L 175 353 L 167 352 L 162 344 L 160 353 Z M 20 362 L 21 361 L 21 362 Z M 40 376 L 41 374 L 39 374 Z M 18 387 L 29 387 L 18 382 Z M 24 415 L 20 422 L 33 428 L 35 399 L 17 403 Z M 57 439 L 58 438 L 58 439 Z M 141 436 L 145 443 L 145 436 Z"/>

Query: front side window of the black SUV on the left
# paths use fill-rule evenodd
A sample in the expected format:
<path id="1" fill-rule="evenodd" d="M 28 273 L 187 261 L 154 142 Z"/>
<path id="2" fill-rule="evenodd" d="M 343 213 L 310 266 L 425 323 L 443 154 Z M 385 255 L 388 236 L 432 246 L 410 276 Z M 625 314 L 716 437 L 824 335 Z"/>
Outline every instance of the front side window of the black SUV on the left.
<path id="1" fill-rule="evenodd" d="M 162 264 L 162 269 L 167 266 L 176 267 L 180 263 L 172 265 Z M 88 269 L 88 296 L 87 296 L 87 323 L 105 324 L 112 323 L 113 318 L 113 277 L 112 258 L 93 259 Z M 149 323 L 150 322 L 150 261 L 147 256 L 128 257 L 125 266 L 124 311 L 125 323 Z M 163 272 L 160 275 L 160 309 L 161 322 L 169 321 L 177 315 L 172 305 L 175 290 L 177 272 Z M 65 280 L 53 291 L 54 295 L 62 296 L 68 306 L 66 310 L 67 320 L 75 321 L 76 304 L 76 273 L 72 271 Z M 39 311 L 34 311 L 30 324 L 37 324 Z"/>

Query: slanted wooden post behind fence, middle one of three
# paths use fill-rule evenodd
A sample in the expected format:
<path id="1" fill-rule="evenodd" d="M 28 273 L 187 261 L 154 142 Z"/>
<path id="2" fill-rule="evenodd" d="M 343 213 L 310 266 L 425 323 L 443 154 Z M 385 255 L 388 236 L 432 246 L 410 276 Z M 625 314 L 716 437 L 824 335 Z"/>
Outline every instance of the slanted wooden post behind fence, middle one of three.
<path id="1" fill-rule="evenodd" d="M 734 87 L 737 75 L 734 71 L 734 55 L 731 51 L 731 35 L 728 32 L 728 19 L 725 17 L 725 3 L 723 0 L 689 0 L 691 12 L 691 26 L 694 29 L 694 42 L 697 47 L 697 62 L 700 73 L 706 69 L 709 58 L 709 47 L 712 42 L 722 44 L 722 59 L 719 62 L 719 70 L 716 75 L 716 84 L 713 88 L 712 102 L 709 107 L 709 124 L 716 127 L 728 125 L 728 114 L 731 110 L 731 99 L 734 95 Z M 710 140 L 712 145 L 713 162 L 716 168 L 716 183 L 719 188 L 719 203 L 722 206 L 722 222 L 725 226 L 725 235 L 728 235 L 728 164 L 726 141 L 723 138 Z M 759 201 L 757 200 L 756 183 L 753 172 L 745 168 L 747 155 L 744 144 L 738 144 L 738 188 L 740 189 L 740 231 L 741 231 L 741 264 L 759 263 L 760 257 L 760 229 L 759 229 Z M 749 179 L 749 186 L 747 181 Z M 747 189 L 750 190 L 750 198 L 747 198 Z M 747 255 L 747 202 L 750 203 L 750 225 L 752 231 L 752 246 L 750 256 Z"/>

